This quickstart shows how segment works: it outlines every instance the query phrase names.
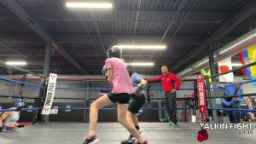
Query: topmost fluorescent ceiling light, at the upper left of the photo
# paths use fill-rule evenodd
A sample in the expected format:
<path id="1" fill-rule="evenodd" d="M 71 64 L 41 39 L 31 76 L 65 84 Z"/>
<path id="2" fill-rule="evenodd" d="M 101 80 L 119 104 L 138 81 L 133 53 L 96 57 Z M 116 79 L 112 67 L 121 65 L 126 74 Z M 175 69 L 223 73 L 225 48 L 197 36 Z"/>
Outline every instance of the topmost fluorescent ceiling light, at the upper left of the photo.
<path id="1" fill-rule="evenodd" d="M 68 8 L 111 9 L 112 3 L 66 3 Z"/>

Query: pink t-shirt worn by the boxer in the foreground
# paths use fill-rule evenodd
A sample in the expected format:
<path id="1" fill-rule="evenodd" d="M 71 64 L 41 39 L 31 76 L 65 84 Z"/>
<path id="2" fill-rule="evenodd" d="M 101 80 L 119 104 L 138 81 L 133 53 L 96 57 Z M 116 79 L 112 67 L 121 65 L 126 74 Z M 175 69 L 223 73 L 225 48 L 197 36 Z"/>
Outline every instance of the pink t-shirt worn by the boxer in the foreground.
<path id="1" fill-rule="evenodd" d="M 124 61 L 118 58 L 108 58 L 105 64 L 107 69 L 111 69 L 113 72 L 113 94 L 135 92 Z"/>

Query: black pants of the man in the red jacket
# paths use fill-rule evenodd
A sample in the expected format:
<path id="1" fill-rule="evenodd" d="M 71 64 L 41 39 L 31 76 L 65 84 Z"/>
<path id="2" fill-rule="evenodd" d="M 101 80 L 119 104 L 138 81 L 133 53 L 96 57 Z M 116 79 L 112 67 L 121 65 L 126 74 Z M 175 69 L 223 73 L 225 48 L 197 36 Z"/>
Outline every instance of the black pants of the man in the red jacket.
<path id="1" fill-rule="evenodd" d="M 167 92 L 165 95 L 165 105 L 166 105 L 166 112 L 172 120 L 173 123 L 177 123 L 176 118 L 176 110 L 177 110 L 177 103 L 176 103 L 176 93 Z"/>

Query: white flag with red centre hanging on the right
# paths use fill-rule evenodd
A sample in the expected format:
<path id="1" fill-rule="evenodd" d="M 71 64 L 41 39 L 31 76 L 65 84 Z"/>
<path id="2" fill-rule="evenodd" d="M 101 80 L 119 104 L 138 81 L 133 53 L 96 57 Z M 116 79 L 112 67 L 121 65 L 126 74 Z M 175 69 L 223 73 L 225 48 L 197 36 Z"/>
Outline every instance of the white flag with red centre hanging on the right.
<path id="1" fill-rule="evenodd" d="M 224 73 L 232 70 L 231 58 L 227 58 L 218 62 L 218 73 Z M 233 82 L 233 72 L 219 76 L 219 82 Z"/>

